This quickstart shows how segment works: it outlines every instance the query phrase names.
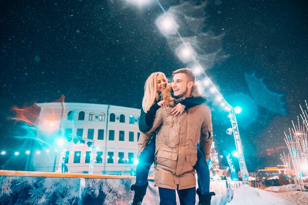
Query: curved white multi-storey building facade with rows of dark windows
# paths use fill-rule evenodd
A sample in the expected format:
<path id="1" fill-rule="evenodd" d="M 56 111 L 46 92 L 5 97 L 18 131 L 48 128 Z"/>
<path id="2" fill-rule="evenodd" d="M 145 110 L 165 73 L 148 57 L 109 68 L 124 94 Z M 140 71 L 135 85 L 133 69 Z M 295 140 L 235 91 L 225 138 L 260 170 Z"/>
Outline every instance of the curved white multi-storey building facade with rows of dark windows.
<path id="1" fill-rule="evenodd" d="M 70 173 L 89 173 L 92 150 L 93 174 L 135 174 L 139 109 L 64 102 L 37 106 L 40 115 L 37 143 L 32 148 L 34 171 L 61 169 L 63 159 Z M 61 139 L 64 144 L 58 145 Z"/>

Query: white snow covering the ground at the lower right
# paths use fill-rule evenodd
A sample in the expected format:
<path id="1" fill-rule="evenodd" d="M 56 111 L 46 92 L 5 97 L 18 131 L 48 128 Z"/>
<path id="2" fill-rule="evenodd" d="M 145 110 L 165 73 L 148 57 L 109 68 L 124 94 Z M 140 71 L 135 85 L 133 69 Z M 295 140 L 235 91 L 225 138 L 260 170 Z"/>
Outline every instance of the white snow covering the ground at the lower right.
<path id="1" fill-rule="evenodd" d="M 265 190 L 243 185 L 234 191 L 233 199 L 227 205 L 308 205 L 308 192 L 297 189 L 295 184 Z"/>

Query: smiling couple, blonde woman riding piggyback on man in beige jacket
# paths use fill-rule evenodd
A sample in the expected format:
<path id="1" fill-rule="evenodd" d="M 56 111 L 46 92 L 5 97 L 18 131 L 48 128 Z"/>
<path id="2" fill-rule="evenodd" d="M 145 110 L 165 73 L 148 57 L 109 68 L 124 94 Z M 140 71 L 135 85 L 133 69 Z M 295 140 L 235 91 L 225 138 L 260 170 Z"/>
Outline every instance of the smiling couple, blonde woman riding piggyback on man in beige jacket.
<path id="1" fill-rule="evenodd" d="M 173 90 L 173 93 L 172 93 Z M 195 85 L 195 75 L 188 68 L 173 72 L 168 85 L 163 73 L 150 75 L 145 94 L 139 129 L 139 164 L 132 205 L 141 205 L 148 186 L 148 174 L 155 161 L 155 185 L 160 205 L 176 205 L 177 190 L 181 205 L 195 205 L 198 174 L 198 205 L 210 205 L 210 172 L 207 165 L 213 140 L 211 111 L 202 105 L 205 98 Z M 200 148 L 197 144 L 200 142 Z M 155 159 L 155 160 L 154 160 Z"/>

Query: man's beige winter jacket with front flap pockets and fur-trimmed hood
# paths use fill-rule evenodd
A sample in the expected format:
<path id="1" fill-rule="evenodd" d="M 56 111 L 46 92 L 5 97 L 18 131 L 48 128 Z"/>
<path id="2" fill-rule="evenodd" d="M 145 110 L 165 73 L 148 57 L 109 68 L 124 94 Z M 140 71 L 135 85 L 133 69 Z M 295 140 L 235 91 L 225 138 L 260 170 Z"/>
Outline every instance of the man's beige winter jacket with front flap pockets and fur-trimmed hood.
<path id="1" fill-rule="evenodd" d="M 168 89 L 163 94 L 165 101 L 170 98 Z M 174 105 L 173 100 L 167 100 L 167 104 Z M 175 190 L 195 187 L 196 146 L 200 142 L 200 149 L 208 160 L 213 141 L 211 111 L 202 104 L 174 117 L 171 110 L 172 107 L 157 110 L 152 129 L 140 136 L 138 153 L 156 130 L 155 185 Z"/>

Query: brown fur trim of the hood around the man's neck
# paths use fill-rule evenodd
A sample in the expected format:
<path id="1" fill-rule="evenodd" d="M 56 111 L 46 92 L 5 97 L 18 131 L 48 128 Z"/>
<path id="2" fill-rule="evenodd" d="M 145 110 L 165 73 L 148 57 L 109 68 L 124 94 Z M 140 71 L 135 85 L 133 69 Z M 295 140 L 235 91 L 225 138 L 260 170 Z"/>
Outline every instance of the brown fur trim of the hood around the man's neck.
<path id="1" fill-rule="evenodd" d="M 199 90 L 199 83 L 195 82 L 191 89 L 191 95 L 193 97 L 202 97 L 203 95 L 201 94 Z M 170 83 L 167 88 L 161 93 L 161 99 L 165 100 L 165 103 L 167 104 L 168 107 L 174 107 L 177 101 L 181 101 L 181 99 L 175 99 L 173 96 L 173 90 L 172 90 L 172 84 Z"/>

